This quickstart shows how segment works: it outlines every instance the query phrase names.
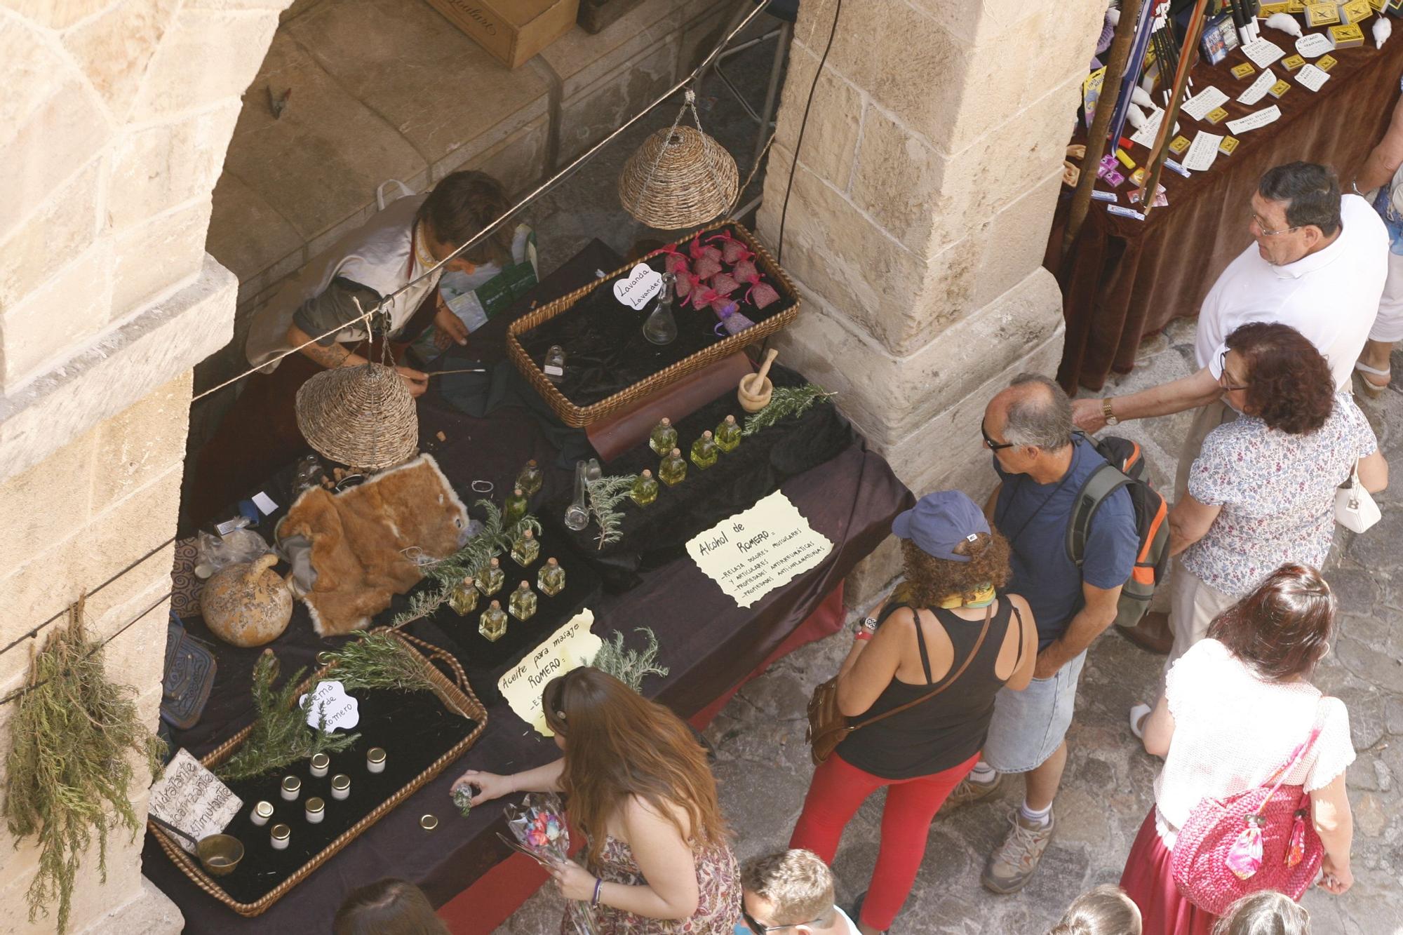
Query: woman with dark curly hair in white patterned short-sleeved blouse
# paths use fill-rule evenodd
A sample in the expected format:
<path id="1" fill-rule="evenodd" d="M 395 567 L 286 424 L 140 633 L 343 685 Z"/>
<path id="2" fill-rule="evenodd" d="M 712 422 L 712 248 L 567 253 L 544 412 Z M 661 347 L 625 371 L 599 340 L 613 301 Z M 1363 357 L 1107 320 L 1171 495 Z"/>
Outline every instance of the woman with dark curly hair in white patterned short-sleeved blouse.
<path id="1" fill-rule="evenodd" d="M 1288 324 L 1254 321 L 1228 336 L 1219 383 L 1240 416 L 1208 432 L 1188 470 L 1188 493 L 1169 514 L 1179 556 L 1170 587 L 1174 649 L 1164 671 L 1208 623 L 1278 566 L 1320 567 L 1334 536 L 1334 491 L 1355 462 L 1371 493 L 1389 466 L 1330 365 Z M 1141 736 L 1149 705 L 1131 709 Z"/>

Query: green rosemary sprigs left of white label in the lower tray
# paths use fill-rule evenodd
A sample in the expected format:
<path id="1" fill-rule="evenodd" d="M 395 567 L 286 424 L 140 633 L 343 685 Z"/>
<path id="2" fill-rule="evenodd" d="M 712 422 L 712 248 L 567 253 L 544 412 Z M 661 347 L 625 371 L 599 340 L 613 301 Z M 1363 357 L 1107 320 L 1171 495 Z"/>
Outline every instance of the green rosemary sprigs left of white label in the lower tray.
<path id="1" fill-rule="evenodd" d="M 325 712 L 316 729 L 307 727 L 307 715 L 296 703 L 306 671 L 299 668 L 282 688 L 274 688 L 278 657 L 272 650 L 262 651 L 254 663 L 253 695 L 258 710 L 254 729 L 233 757 L 215 767 L 215 775 L 227 782 L 251 779 L 313 754 L 341 752 L 359 740 L 361 734 L 327 733 Z M 307 691 L 313 689 L 314 685 Z"/>

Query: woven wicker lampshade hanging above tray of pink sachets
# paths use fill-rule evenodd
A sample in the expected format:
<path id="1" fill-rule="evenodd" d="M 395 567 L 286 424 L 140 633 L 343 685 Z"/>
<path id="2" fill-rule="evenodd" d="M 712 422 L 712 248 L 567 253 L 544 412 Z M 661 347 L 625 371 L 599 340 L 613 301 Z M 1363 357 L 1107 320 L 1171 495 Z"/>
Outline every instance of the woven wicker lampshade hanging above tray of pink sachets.
<path id="1" fill-rule="evenodd" d="M 648 136 L 623 167 L 619 201 L 658 230 L 700 227 L 735 201 L 741 173 L 725 146 L 694 126 Z"/>

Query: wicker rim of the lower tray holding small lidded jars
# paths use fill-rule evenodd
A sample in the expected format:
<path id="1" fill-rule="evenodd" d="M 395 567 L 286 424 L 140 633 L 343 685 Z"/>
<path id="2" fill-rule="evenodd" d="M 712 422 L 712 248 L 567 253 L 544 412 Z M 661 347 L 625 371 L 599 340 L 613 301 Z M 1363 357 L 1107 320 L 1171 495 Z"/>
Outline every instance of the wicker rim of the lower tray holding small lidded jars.
<path id="1" fill-rule="evenodd" d="M 279 898 L 286 896 L 288 890 L 290 890 L 297 883 L 304 880 L 313 870 L 316 870 L 318 866 L 331 859 L 338 851 L 341 851 L 341 848 L 349 844 L 354 838 L 359 837 L 361 833 L 363 833 L 372 824 L 383 818 L 390 810 L 393 810 L 397 804 L 400 804 L 400 802 L 412 795 L 419 786 L 422 786 L 429 779 L 441 774 L 445 767 L 448 767 L 450 762 L 463 755 L 463 752 L 469 747 L 477 743 L 478 736 L 481 736 L 483 729 L 487 726 L 487 709 L 483 708 L 481 702 L 477 701 L 477 696 L 473 695 L 473 688 L 467 682 L 467 675 L 463 672 L 463 667 L 459 665 L 456 658 L 453 658 L 446 651 L 438 649 L 436 646 L 425 643 L 424 640 L 410 636 L 408 633 L 401 633 L 397 630 L 389 630 L 389 632 L 391 636 L 401 640 L 405 644 L 405 649 L 408 649 L 411 653 L 414 653 L 424 661 L 424 668 L 428 671 L 429 682 L 434 685 L 434 694 L 438 695 L 439 701 L 443 702 L 443 708 L 453 715 L 459 715 L 464 719 L 477 723 L 477 726 L 471 730 L 471 733 L 459 740 L 445 754 L 442 754 L 438 760 L 429 764 L 428 769 L 421 772 L 418 776 L 415 776 L 412 781 L 410 781 L 407 785 L 398 789 L 389 799 L 386 799 L 375 809 L 372 809 L 369 814 L 366 814 L 363 818 L 351 825 L 347 831 L 334 838 L 310 861 L 303 863 L 290 876 L 282 880 L 282 883 L 279 883 L 276 887 L 274 887 L 261 898 L 253 903 L 240 903 L 239 900 L 231 897 L 224 890 L 224 887 L 220 886 L 217 879 L 205 873 L 203 868 L 201 868 L 199 865 L 199 861 L 192 854 L 187 854 L 185 849 L 181 848 L 175 842 L 175 840 L 170 837 L 163 828 L 159 828 L 154 823 L 147 823 L 147 828 L 153 835 L 156 835 L 156 841 L 161 845 L 161 849 L 166 851 L 167 856 L 170 856 L 170 859 L 175 863 L 175 866 L 178 866 L 185 873 L 185 876 L 188 876 L 195 883 L 195 886 L 205 890 L 206 893 L 209 893 L 216 900 L 230 907 L 240 915 L 254 917 L 267 911 L 269 906 L 272 906 Z M 412 644 L 424 647 L 428 656 L 432 656 L 434 658 L 439 658 L 443 663 L 446 663 L 449 668 L 453 671 L 453 681 L 445 678 L 443 674 L 439 672 L 428 661 L 428 658 L 425 658 L 422 653 L 415 650 Z M 311 684 L 313 678 L 316 678 L 316 675 L 307 678 L 307 681 L 303 682 L 302 685 L 303 691 Z M 234 750 L 237 750 L 239 745 L 244 741 L 250 730 L 253 730 L 251 726 L 244 727 L 237 734 L 230 737 L 227 741 L 220 744 L 216 750 L 206 754 L 201 760 L 201 762 L 208 768 L 219 765 L 230 755 L 233 755 Z M 247 804 L 248 803 L 246 803 L 246 806 Z M 246 856 L 244 859 L 247 861 L 248 858 Z"/>

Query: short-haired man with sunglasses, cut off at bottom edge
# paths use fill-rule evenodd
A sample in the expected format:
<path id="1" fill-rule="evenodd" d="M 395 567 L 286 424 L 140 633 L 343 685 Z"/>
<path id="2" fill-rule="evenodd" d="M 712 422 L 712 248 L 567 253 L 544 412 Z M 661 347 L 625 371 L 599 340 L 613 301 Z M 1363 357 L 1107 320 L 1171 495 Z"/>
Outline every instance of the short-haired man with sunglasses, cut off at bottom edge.
<path id="1" fill-rule="evenodd" d="M 833 872 L 812 851 L 780 851 L 741 868 L 742 918 L 735 935 L 859 935 L 833 904 Z"/>

